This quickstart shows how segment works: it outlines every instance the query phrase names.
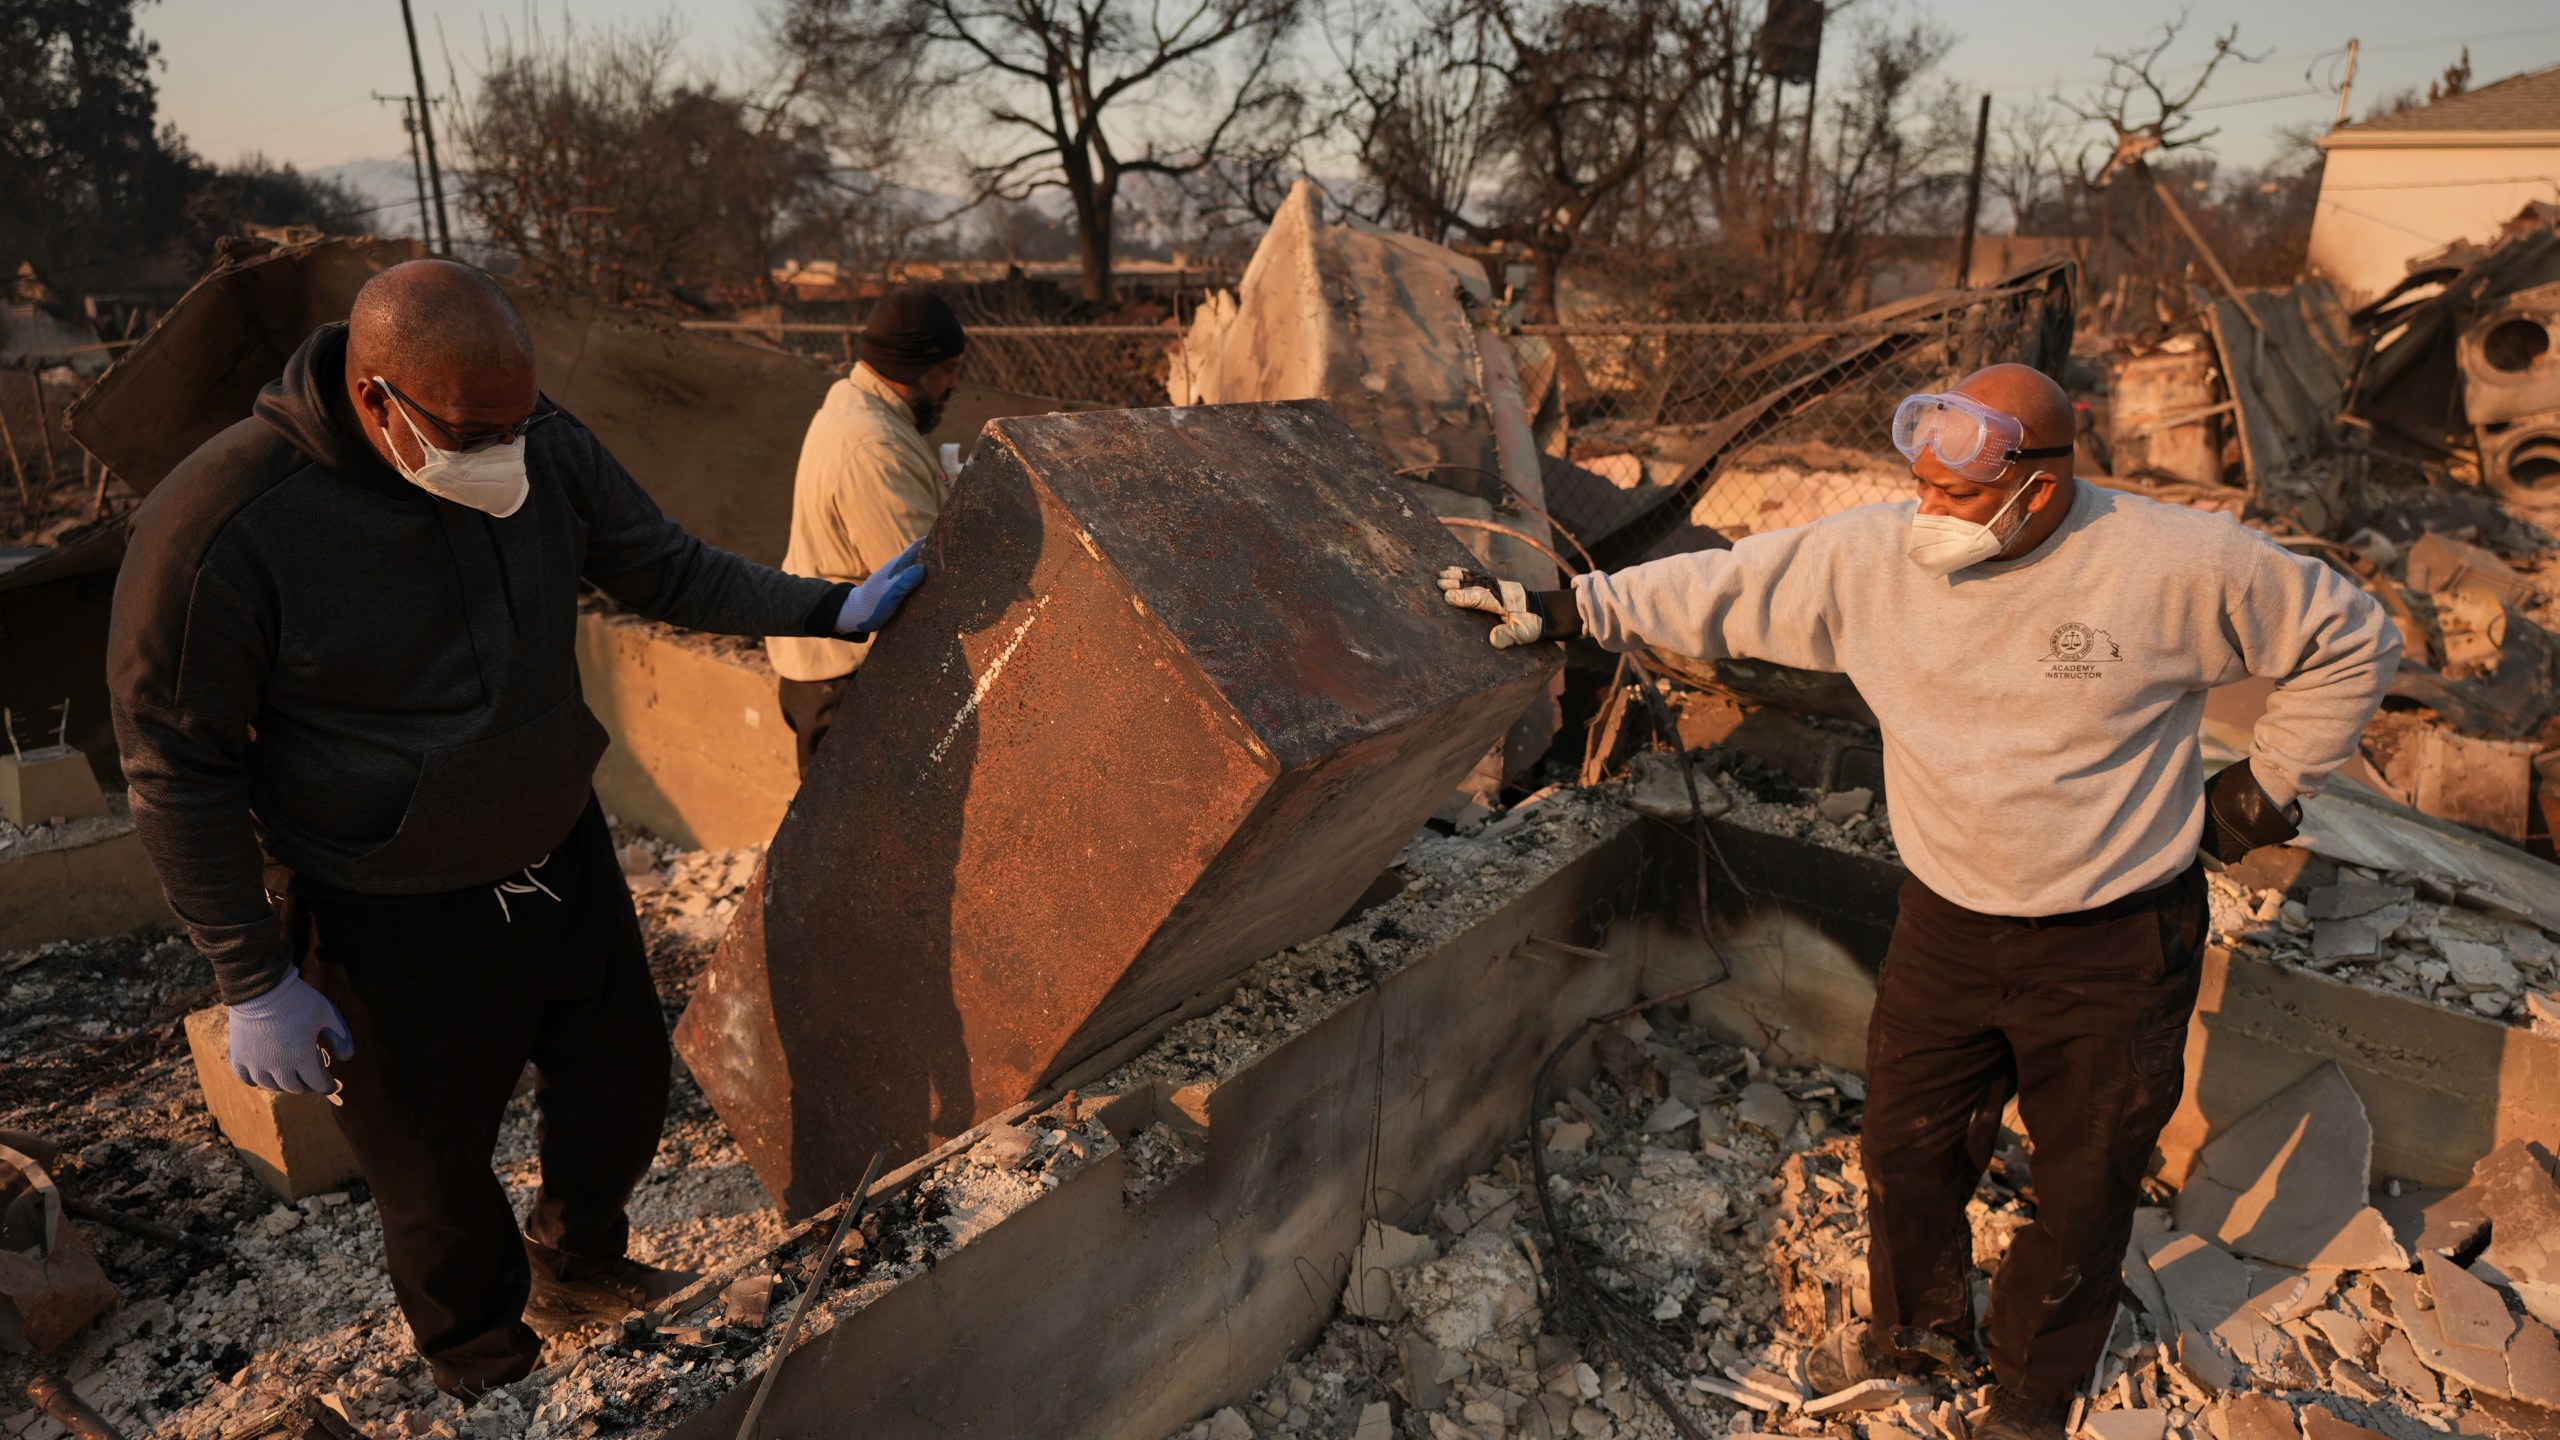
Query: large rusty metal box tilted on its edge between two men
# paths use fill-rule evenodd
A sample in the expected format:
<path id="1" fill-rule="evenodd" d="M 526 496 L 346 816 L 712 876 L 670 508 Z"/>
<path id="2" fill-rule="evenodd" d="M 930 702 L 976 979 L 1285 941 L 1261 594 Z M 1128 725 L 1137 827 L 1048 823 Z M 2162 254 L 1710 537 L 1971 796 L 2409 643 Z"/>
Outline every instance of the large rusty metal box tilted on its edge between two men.
<path id="1" fill-rule="evenodd" d="M 1556 671 L 1324 402 L 988 428 L 676 1045 L 837 1199 L 1326 930 Z"/>

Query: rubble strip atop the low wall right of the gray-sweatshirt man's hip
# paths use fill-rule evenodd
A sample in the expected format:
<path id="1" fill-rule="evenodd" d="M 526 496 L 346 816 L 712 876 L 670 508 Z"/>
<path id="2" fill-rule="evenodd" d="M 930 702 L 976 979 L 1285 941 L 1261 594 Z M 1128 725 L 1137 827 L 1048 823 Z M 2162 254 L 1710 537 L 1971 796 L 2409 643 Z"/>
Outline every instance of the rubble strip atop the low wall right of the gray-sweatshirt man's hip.
<path id="1" fill-rule="evenodd" d="M 2337 866 L 2332 884 L 2253 889 L 2207 876 L 2212 938 L 2237 953 L 2465 1015 L 2560 1033 L 2560 943 L 2447 876 Z M 2299 894 L 2296 894 L 2299 892 Z"/>

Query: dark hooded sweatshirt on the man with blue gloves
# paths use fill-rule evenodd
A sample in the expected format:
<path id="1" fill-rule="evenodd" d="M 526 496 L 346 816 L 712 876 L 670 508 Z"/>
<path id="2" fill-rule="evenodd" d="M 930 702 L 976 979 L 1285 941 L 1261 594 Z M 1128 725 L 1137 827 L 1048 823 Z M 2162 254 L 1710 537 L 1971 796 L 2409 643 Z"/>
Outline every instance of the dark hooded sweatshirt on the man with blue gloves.
<path id="1" fill-rule="evenodd" d="M 307 338 L 151 492 L 115 579 L 133 825 L 228 1002 L 284 976 L 266 861 L 435 894 L 568 835 L 604 753 L 581 582 L 727 635 L 829 635 L 845 594 L 686 536 L 568 415 L 527 433 L 515 515 L 438 500 L 361 438 L 343 361 L 346 325 Z"/>

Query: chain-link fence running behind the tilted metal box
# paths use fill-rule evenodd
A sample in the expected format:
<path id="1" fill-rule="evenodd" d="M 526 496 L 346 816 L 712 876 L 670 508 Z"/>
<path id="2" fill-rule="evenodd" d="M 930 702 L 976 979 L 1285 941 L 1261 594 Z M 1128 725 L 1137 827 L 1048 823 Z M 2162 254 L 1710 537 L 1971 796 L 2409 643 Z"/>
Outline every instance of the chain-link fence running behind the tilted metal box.
<path id="1" fill-rule="evenodd" d="M 694 323 L 845 364 L 842 325 Z M 1167 405 L 1170 325 L 973 325 L 973 384 L 1085 405 Z M 1905 315 L 1697 325 L 1521 325 L 1531 407 L 1556 395 L 1564 454 L 1546 510 L 1585 548 L 1626 564 L 1697 528 L 1802 525 L 1910 492 L 1887 441 L 1894 402 L 2002 359 L 2048 372 L 2071 343 L 2068 287 L 1933 295 Z"/>

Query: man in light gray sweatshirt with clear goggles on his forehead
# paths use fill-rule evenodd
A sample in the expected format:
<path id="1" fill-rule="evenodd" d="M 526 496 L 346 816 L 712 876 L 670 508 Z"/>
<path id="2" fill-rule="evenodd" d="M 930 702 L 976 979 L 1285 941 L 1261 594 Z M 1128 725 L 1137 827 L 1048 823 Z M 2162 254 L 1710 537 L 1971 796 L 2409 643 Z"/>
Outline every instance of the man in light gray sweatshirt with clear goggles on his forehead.
<path id="1" fill-rule="evenodd" d="M 1866 1043 L 1869 1335 L 1833 1379 L 1974 1348 L 1976 1125 L 2015 1094 L 2035 1222 L 1992 1286 L 1974 1440 L 2061 1437 L 2122 1289 L 2153 1143 L 2184 1086 L 2202 856 L 2294 835 L 2399 664 L 2383 607 L 2227 515 L 2071 474 L 2071 405 L 1992 366 L 1894 418 L 1915 500 L 1569 592 L 1449 571 L 1492 643 L 1590 635 L 1843 671 L 1884 730 L 1912 879 Z M 2248 764 L 2207 781 L 2204 692 L 2268 676 Z"/>

